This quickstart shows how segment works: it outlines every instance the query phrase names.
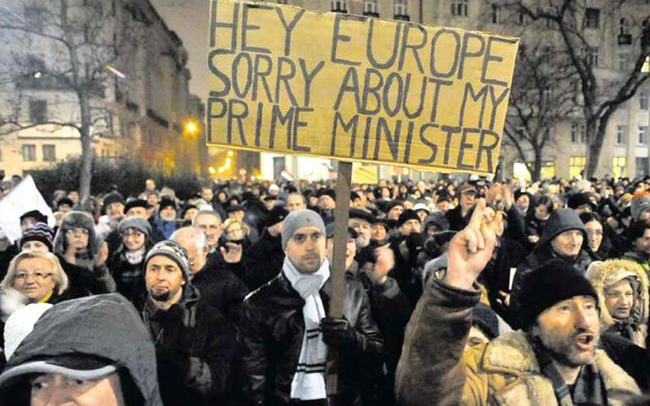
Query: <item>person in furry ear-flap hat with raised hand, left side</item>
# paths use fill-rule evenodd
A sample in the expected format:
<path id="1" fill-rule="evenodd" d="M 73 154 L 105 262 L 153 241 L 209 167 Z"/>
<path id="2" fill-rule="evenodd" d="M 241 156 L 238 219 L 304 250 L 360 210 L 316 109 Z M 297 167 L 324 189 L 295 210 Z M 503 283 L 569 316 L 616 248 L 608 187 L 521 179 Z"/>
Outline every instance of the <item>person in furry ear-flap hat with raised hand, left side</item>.
<path id="1" fill-rule="evenodd" d="M 68 275 L 71 298 L 115 292 L 115 280 L 106 266 L 108 246 L 97 239 L 95 222 L 88 214 L 64 216 L 54 238 L 54 253 Z"/>

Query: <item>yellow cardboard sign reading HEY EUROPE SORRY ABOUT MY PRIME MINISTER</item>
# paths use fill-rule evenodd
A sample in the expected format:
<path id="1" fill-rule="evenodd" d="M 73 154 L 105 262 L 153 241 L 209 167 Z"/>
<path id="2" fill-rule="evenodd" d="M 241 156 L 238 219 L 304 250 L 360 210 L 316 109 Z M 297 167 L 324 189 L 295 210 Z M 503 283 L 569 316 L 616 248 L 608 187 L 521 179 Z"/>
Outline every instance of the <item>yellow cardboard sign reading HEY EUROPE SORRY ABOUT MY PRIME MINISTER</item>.
<path id="1" fill-rule="evenodd" d="M 208 144 L 494 173 L 518 38 L 211 0 Z"/>

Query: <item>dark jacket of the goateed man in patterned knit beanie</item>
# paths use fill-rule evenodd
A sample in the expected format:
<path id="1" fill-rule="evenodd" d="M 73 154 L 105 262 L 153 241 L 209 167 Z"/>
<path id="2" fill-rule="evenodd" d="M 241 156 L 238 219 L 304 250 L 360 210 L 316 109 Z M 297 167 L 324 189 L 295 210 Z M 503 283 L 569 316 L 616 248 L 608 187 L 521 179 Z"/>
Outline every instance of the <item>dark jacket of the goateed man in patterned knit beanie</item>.
<path id="1" fill-rule="evenodd" d="M 219 309 L 187 279 L 182 299 L 166 312 L 148 296 L 139 309 L 156 346 L 165 406 L 227 405 L 236 341 Z"/>

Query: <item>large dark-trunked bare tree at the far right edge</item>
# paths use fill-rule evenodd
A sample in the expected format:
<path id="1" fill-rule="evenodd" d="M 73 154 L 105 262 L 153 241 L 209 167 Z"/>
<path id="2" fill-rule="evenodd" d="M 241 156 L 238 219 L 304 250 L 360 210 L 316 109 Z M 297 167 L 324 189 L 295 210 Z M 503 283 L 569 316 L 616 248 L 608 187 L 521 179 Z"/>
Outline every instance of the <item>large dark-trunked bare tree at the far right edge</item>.
<path id="1" fill-rule="evenodd" d="M 625 7 L 634 8 L 633 1 L 601 1 L 602 8 L 595 8 L 586 0 L 486 0 L 494 8 L 509 12 L 517 23 L 527 21 L 546 29 L 544 36 L 549 46 L 564 53 L 570 62 L 566 68 L 577 77 L 577 106 L 585 120 L 587 142 L 586 175 L 594 175 L 603 144 L 607 123 L 623 103 L 634 97 L 638 88 L 648 80 L 650 63 L 650 10 L 636 6 L 642 15 L 636 15 L 641 23 L 627 33 L 619 33 L 616 26 L 623 18 Z M 622 23 L 622 21 L 621 21 Z M 629 37 L 629 64 L 618 69 L 616 79 L 597 75 L 599 65 L 599 35 L 605 25 L 612 24 L 611 34 Z M 623 28 L 621 28 L 623 29 Z M 627 40 L 627 39 L 626 39 Z M 600 56 L 602 60 L 602 56 Z"/>

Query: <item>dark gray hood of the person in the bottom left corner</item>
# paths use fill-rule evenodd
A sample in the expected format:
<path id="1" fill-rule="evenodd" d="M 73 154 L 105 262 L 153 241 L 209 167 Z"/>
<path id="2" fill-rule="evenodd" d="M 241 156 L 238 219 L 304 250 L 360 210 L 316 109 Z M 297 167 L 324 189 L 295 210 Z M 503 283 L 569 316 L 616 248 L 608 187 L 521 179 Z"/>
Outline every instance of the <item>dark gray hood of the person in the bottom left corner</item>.
<path id="1" fill-rule="evenodd" d="M 47 310 L 9 359 L 3 374 L 28 361 L 78 354 L 117 364 L 122 389 L 128 385 L 134 390 L 128 392 L 134 397 L 127 396 L 126 406 L 163 406 L 154 345 L 136 309 L 119 294 L 65 301 Z M 25 375 L 0 385 L 1 405 L 29 405 L 29 383 L 21 377 Z"/>

